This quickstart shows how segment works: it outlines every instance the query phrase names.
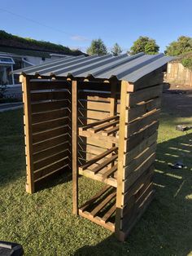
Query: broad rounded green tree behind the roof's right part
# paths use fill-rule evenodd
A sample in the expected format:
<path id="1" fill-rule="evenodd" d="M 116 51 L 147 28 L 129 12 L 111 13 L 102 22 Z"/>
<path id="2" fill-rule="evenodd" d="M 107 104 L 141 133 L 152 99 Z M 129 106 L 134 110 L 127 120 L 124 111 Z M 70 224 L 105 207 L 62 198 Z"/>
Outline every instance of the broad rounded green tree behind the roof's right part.
<path id="1" fill-rule="evenodd" d="M 154 55 L 159 52 L 159 46 L 156 44 L 155 39 L 139 37 L 133 42 L 133 46 L 131 46 L 129 53 L 130 55 L 135 55 L 142 51 L 146 54 Z"/>

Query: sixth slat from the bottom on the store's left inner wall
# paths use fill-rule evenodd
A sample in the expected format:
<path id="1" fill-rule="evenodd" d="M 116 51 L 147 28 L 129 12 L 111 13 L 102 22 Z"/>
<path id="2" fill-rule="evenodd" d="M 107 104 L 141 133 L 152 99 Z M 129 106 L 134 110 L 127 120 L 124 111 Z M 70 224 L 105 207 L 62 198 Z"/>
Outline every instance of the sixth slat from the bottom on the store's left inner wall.
<path id="1" fill-rule="evenodd" d="M 43 132 L 39 132 L 36 134 L 33 134 L 33 143 L 38 143 L 46 139 L 51 139 L 59 135 L 63 135 L 65 133 L 68 133 L 68 125 L 65 126 L 59 126 L 51 130 L 46 130 Z"/>

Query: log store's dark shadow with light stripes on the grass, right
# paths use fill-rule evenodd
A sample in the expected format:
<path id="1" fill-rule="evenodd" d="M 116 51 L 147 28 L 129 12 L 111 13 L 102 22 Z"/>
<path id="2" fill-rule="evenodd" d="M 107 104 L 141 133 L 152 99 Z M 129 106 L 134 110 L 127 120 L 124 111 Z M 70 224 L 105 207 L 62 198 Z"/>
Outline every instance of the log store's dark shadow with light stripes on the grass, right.
<path id="1" fill-rule="evenodd" d="M 158 144 L 155 199 L 124 243 L 111 235 L 74 255 L 189 255 L 192 250 L 192 134 Z M 170 165 L 183 161 L 184 169 Z"/>

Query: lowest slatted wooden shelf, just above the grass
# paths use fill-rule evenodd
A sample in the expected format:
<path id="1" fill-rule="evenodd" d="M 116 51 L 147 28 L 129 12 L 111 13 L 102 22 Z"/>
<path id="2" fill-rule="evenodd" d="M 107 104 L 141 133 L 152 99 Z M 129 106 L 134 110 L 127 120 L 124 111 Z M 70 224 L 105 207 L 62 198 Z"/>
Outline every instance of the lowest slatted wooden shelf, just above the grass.
<path id="1" fill-rule="evenodd" d="M 115 232 L 116 188 L 105 186 L 84 205 L 81 205 L 79 214 Z"/>

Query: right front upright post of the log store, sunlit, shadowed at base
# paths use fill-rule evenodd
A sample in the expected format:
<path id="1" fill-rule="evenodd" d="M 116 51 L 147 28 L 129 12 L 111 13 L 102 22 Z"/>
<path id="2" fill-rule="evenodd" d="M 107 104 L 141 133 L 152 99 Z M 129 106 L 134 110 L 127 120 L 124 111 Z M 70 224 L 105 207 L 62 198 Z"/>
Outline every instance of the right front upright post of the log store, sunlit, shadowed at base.
<path id="1" fill-rule="evenodd" d="M 116 224 L 115 232 L 117 238 L 120 240 L 120 217 L 122 211 L 122 191 L 123 191 L 123 177 L 124 177 L 124 138 L 125 138 L 125 113 L 127 97 L 128 82 L 121 82 L 120 89 L 120 135 L 119 135 L 119 152 L 118 152 L 118 170 L 117 170 L 117 191 L 116 191 Z"/>

